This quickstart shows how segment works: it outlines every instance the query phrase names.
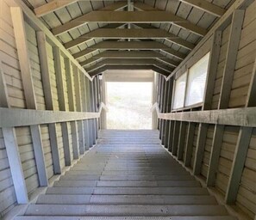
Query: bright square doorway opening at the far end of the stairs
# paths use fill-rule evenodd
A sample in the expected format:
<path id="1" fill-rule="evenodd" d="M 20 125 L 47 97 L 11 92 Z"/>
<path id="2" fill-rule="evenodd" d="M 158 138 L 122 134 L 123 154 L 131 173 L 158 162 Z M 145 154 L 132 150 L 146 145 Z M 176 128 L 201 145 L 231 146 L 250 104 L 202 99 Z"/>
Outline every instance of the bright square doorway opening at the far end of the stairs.
<path id="1" fill-rule="evenodd" d="M 153 83 L 108 82 L 108 129 L 152 129 Z"/>

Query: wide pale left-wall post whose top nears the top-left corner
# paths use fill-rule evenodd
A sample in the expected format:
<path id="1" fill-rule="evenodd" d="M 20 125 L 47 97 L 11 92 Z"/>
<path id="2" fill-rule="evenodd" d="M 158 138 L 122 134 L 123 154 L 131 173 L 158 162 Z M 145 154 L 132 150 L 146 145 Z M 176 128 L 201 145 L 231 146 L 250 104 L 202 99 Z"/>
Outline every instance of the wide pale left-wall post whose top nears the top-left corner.
<path id="1" fill-rule="evenodd" d="M 21 67 L 22 84 L 26 105 L 29 109 L 37 109 L 23 12 L 22 9 L 19 7 L 12 7 L 10 8 L 10 11 L 16 37 L 17 53 Z M 36 162 L 40 186 L 48 186 L 47 169 L 45 164 L 43 145 L 41 141 L 40 125 L 31 125 L 30 131 L 33 141 L 34 158 Z"/>

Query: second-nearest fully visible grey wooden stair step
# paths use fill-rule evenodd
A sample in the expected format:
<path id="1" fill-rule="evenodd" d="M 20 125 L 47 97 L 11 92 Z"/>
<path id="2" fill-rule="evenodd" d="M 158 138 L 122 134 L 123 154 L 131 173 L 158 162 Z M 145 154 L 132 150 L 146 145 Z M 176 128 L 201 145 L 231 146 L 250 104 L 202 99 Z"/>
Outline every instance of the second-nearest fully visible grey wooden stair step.
<path id="1" fill-rule="evenodd" d="M 36 204 L 66 205 L 216 205 L 212 196 L 164 195 L 41 195 Z"/>

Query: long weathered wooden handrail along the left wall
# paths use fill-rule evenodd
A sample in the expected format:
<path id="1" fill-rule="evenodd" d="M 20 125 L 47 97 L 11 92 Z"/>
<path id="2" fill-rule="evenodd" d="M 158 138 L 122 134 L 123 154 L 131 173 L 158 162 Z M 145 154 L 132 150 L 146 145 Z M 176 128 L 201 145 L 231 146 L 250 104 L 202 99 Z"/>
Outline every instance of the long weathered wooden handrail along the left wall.
<path id="1" fill-rule="evenodd" d="M 0 107 L 0 128 L 98 119 L 103 110 L 106 112 L 109 111 L 108 107 L 106 107 L 103 102 L 100 104 L 97 113 Z"/>

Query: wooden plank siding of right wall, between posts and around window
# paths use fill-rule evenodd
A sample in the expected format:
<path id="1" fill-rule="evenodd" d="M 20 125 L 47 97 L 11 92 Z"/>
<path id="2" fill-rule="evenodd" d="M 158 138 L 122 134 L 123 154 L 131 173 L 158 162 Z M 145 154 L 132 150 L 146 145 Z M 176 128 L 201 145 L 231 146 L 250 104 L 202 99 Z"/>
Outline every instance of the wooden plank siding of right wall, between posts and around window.
<path id="1" fill-rule="evenodd" d="M 253 82 L 252 73 L 253 65 L 255 68 L 256 57 L 256 2 L 253 1 L 253 3 L 251 3 L 248 7 L 243 9 L 245 9 L 245 14 L 241 26 L 240 38 L 238 39 L 238 51 L 237 55 L 234 58 L 234 77 L 231 77 L 230 95 L 227 100 L 227 107 L 225 108 L 247 107 L 247 98 L 250 95 L 249 85 L 251 82 Z M 235 39 L 235 36 L 230 36 L 232 25 L 234 25 L 230 20 L 223 22 L 222 27 L 219 27 L 217 29 L 217 31 L 221 31 L 220 52 L 216 62 L 216 74 L 215 80 L 213 81 L 214 89 L 213 95 L 210 100 L 211 104 L 210 107 L 205 110 L 220 109 L 219 102 L 221 99 L 221 92 L 223 87 L 225 87 L 225 85 L 223 86 L 222 84 L 223 76 L 225 74 L 225 71 L 228 72 L 226 65 L 228 62 L 230 62 L 230 60 L 228 61 L 228 45 L 230 43 L 230 40 Z M 197 60 L 202 58 L 206 52 L 211 51 L 210 45 L 212 44 L 213 40 L 214 37 L 210 36 L 209 40 L 206 40 L 201 48 L 199 48 L 194 53 L 192 52 L 192 56 L 190 56 L 190 58 L 182 66 L 179 66 L 176 70 L 174 70 L 176 73 L 174 77 L 176 76 L 177 78 L 178 76 L 180 76 L 187 68 L 190 68 L 192 64 L 197 63 Z M 229 50 L 231 51 L 232 48 L 229 48 Z M 159 89 L 159 95 L 164 95 L 163 93 L 161 93 L 161 89 Z M 161 102 L 160 106 L 164 104 L 164 99 L 165 98 L 159 98 L 159 101 Z M 202 109 L 203 105 L 202 107 L 191 107 L 189 109 L 184 109 L 178 112 L 198 111 Z M 172 112 L 176 113 L 177 111 Z M 160 121 L 162 120 L 160 119 Z M 170 125 L 172 123 L 174 123 L 174 121 L 172 121 Z M 248 218 L 253 219 L 256 214 L 256 130 L 253 129 L 253 134 L 250 143 L 248 144 L 247 150 L 246 144 L 240 144 L 240 132 L 242 128 L 240 126 L 224 126 L 222 136 L 220 136 L 221 139 L 219 140 L 220 144 L 218 144 L 220 146 L 220 152 L 215 159 L 215 162 L 217 162 L 217 166 L 214 172 L 214 183 L 209 184 L 209 169 L 211 169 L 210 172 L 212 172 L 212 168 L 209 168 L 211 166 L 210 159 L 213 151 L 218 151 L 216 149 L 213 149 L 213 145 L 217 137 L 215 137 L 215 130 L 219 129 L 216 127 L 216 125 L 207 125 L 205 128 L 206 135 L 203 136 L 203 131 L 200 131 L 199 129 L 200 123 L 196 123 L 194 130 L 189 130 L 189 126 L 186 126 L 185 136 L 183 136 L 184 134 L 182 134 L 181 131 L 174 131 L 174 128 L 170 126 L 170 131 L 165 135 L 169 136 L 169 139 L 171 139 L 171 143 L 168 143 L 169 146 L 165 147 L 167 147 L 172 152 L 173 156 L 177 156 L 177 154 L 173 151 L 173 149 L 175 149 L 175 146 L 173 146 L 173 144 L 177 143 L 173 142 L 173 139 L 175 139 L 175 136 L 179 136 L 179 138 L 185 137 L 186 141 L 184 144 L 185 149 L 183 156 L 177 156 L 177 159 L 183 162 L 188 168 L 190 168 L 191 172 L 193 174 L 196 174 L 201 180 L 203 180 L 206 185 L 214 186 L 215 193 L 221 194 L 223 201 L 226 201 L 228 204 L 236 205 L 235 207 L 240 208 L 240 211 L 245 213 Z M 161 130 L 162 128 L 159 126 L 159 129 Z M 192 138 L 188 139 L 188 133 L 191 131 L 193 131 Z M 165 130 L 162 129 L 161 132 L 165 132 Z M 176 134 L 176 132 L 178 132 L 178 134 Z M 199 149 L 200 146 L 198 145 L 200 141 L 202 141 L 201 143 L 203 143 L 203 147 L 201 150 Z M 186 162 L 186 153 L 190 151 L 190 143 L 188 142 L 192 143 L 191 155 L 190 153 L 188 154 L 190 158 L 188 158 L 188 162 Z M 180 144 L 177 145 L 178 148 L 181 147 Z M 232 182 L 231 179 L 234 178 L 235 172 L 239 172 L 233 169 L 234 162 L 236 162 L 237 158 L 239 157 L 237 156 L 239 146 L 247 150 L 247 156 L 245 163 L 240 165 L 242 174 L 240 176 L 240 181 L 236 183 L 238 186 L 238 192 L 231 196 L 234 197 L 234 202 L 230 203 L 227 199 L 230 196 L 229 185 L 230 182 Z M 195 166 L 198 167 L 198 164 L 195 165 L 195 160 L 197 160 L 200 154 L 202 154 L 202 163 L 199 164 L 200 169 L 199 172 L 197 172 L 197 168 L 195 168 Z"/>

